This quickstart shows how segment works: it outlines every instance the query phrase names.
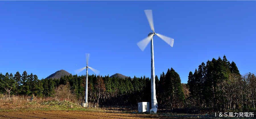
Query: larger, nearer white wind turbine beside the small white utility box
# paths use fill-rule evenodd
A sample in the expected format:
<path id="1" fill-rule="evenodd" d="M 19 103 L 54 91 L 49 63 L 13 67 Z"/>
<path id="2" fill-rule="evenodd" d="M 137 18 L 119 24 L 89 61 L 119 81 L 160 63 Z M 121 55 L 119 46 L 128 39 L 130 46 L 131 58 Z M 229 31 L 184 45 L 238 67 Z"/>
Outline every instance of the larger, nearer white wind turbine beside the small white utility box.
<path id="1" fill-rule="evenodd" d="M 137 43 L 139 48 L 144 51 L 146 46 L 148 45 L 149 41 L 151 41 L 151 110 L 156 113 L 157 111 L 157 101 L 156 101 L 156 84 L 155 84 L 155 69 L 154 69 L 154 49 L 153 49 L 153 37 L 154 35 L 157 35 L 162 40 L 164 40 L 166 43 L 168 43 L 170 46 L 173 46 L 174 39 L 169 38 L 167 36 L 155 33 L 154 30 L 154 23 L 153 23 L 153 15 L 152 10 L 144 10 L 146 17 L 148 19 L 148 23 L 150 25 L 152 33 L 148 34 L 148 37 L 141 40 Z"/>

